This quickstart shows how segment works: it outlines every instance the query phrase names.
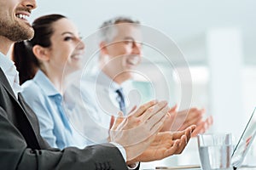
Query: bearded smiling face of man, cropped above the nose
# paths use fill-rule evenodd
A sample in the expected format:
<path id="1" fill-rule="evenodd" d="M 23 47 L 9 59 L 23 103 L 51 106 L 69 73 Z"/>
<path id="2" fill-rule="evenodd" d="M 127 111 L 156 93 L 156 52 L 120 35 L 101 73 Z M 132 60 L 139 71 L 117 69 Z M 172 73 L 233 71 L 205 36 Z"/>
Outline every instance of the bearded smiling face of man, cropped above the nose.
<path id="1" fill-rule="evenodd" d="M 0 37 L 11 42 L 32 38 L 34 31 L 26 19 L 33 8 L 36 8 L 34 0 L 1 0 Z"/>

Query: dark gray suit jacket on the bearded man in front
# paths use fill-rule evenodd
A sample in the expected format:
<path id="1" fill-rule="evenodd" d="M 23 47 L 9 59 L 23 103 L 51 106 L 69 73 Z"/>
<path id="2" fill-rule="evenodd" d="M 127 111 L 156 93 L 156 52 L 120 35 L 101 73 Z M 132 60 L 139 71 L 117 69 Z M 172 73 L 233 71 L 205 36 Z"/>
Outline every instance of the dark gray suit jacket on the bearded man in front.
<path id="1" fill-rule="evenodd" d="M 0 169 L 127 169 L 112 144 L 97 144 L 79 150 L 49 147 L 39 134 L 38 119 L 19 100 L 0 68 Z"/>

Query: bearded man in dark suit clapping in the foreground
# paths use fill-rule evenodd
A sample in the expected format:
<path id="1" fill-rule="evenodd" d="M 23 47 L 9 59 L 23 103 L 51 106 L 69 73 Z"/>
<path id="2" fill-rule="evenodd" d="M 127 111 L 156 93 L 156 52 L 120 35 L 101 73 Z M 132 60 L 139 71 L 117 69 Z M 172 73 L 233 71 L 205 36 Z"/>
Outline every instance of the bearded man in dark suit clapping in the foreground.
<path id="1" fill-rule="evenodd" d="M 189 127 L 176 136 L 158 133 L 168 111 L 165 102 L 148 103 L 124 121 L 117 119 L 113 133 L 110 133 L 109 144 L 92 145 L 84 150 L 50 148 L 39 134 L 37 117 L 19 94 L 20 86 L 14 64 L 5 56 L 12 43 L 32 38 L 33 30 L 26 18 L 34 8 L 35 0 L 0 0 L 1 169 L 120 170 L 127 169 L 126 163 L 153 161 L 183 150 L 195 127 Z M 137 132 L 136 136 L 140 140 L 131 140 L 135 132 L 128 129 L 142 124 L 148 137 L 142 139 L 144 134 Z"/>

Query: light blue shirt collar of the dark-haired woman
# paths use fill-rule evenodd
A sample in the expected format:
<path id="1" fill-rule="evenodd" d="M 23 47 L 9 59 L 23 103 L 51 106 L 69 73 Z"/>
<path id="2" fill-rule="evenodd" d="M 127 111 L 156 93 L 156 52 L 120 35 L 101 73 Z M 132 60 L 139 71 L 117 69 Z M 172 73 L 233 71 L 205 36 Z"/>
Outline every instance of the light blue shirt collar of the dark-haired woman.
<path id="1" fill-rule="evenodd" d="M 55 88 L 54 84 L 49 81 L 49 78 L 44 74 L 43 71 L 38 70 L 33 80 L 38 83 L 38 86 L 44 91 L 46 95 L 48 96 L 61 95 Z"/>

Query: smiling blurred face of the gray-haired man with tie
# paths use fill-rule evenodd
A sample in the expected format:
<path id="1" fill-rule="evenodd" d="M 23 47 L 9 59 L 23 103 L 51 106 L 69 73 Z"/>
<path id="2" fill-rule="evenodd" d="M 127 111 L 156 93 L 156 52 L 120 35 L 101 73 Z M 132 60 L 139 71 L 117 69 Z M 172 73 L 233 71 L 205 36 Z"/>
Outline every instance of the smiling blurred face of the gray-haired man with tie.
<path id="1" fill-rule="evenodd" d="M 133 69 L 142 58 L 141 32 L 137 25 L 115 25 L 113 41 L 102 48 L 102 71 L 121 84 L 131 79 Z"/>

